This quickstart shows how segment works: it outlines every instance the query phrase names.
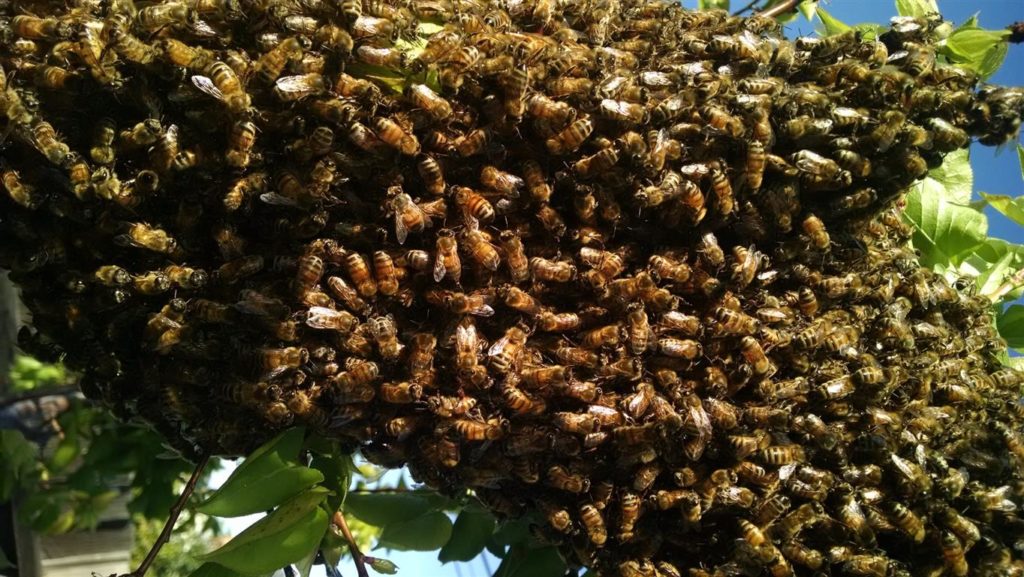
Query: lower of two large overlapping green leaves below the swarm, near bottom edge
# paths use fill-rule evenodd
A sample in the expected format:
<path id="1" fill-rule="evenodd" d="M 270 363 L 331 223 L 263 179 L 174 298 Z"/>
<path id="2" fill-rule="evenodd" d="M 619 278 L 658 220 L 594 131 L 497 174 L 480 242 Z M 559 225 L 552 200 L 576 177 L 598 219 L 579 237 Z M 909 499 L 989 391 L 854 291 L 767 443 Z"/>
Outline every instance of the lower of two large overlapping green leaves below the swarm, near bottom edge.
<path id="1" fill-rule="evenodd" d="M 215 551 L 199 561 L 254 575 L 295 563 L 315 548 L 327 531 L 327 511 L 319 504 L 328 490 L 314 487 L 300 493 Z"/>

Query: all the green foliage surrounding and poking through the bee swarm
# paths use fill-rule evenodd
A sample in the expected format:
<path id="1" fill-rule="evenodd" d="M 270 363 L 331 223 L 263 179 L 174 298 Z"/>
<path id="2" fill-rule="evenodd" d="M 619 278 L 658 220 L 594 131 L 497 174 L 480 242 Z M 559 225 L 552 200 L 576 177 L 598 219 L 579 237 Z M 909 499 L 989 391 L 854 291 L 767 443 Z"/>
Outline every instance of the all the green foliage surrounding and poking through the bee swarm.
<path id="1" fill-rule="evenodd" d="M 805 17 L 819 33 L 831 35 L 857 30 L 870 38 L 881 25 L 847 25 L 816 0 L 761 0 L 732 6 L 738 11 L 792 5 L 782 22 Z M 730 8 L 729 0 L 698 0 L 698 7 Z M 895 0 L 900 15 L 938 11 L 934 0 Z M 421 27 L 425 38 L 433 31 Z M 942 32 L 940 60 L 993 74 L 1007 54 L 1009 31 L 984 30 L 977 17 Z M 423 42 L 409 50 L 422 49 Z M 366 71 L 373 74 L 374 71 Z M 404 78 L 382 78 L 397 88 Z M 429 82 L 430 79 L 421 79 Z M 1024 147 L 1016 146 L 1024 179 Z M 959 281 L 968 290 L 992 300 L 995 323 L 1011 349 L 1024 352 L 1024 304 L 1016 303 L 1024 290 L 1024 244 L 989 236 L 985 208 L 1024 226 L 1024 196 L 974 192 L 968 151 L 957 151 L 916 183 L 906 199 L 904 215 L 914 226 L 913 246 L 921 263 Z M 1018 233 L 1021 230 L 1017 231 Z M 1024 238 L 1014 234 L 1012 238 Z M 1020 357 L 1008 364 L 1024 367 Z M 19 357 L 12 370 L 14 391 L 66 384 L 59 366 Z M 130 510 L 135 516 L 137 559 L 143 557 L 160 532 L 168 509 L 191 465 L 165 452 L 153 458 L 160 438 L 150 429 L 120 423 L 106 412 L 75 401 L 57 418 L 54 434 L 39 445 L 16 430 L 0 430 L 0 501 L 14 496 L 26 511 L 23 523 L 45 533 L 88 530 L 117 495 L 112 487 L 127 482 Z M 207 469 L 207 475 L 212 467 Z M 292 566 L 308 575 L 314 562 L 337 567 L 354 545 L 397 551 L 438 551 L 442 563 L 465 562 L 483 551 L 500 559 L 495 577 L 555 577 L 567 571 L 557 550 L 532 538 L 537 520 L 499 521 L 469 492 L 441 496 L 408 486 L 403 478 L 385 481 L 376 467 L 343 455 L 338 448 L 296 428 L 251 454 L 217 490 L 206 483 L 194 495 L 188 511 L 166 546 L 153 575 L 259 576 Z M 351 529 L 350 544 L 337 525 L 342 511 Z M 200 543 L 217 533 L 216 518 L 236 518 L 268 511 L 224 546 L 208 551 Z M 317 554 L 319 551 L 319 554 Z M 0 558 L 0 568 L 5 560 Z M 393 573 L 385 559 L 366 558 L 381 573 Z M 332 571 L 328 571 L 332 574 Z"/>

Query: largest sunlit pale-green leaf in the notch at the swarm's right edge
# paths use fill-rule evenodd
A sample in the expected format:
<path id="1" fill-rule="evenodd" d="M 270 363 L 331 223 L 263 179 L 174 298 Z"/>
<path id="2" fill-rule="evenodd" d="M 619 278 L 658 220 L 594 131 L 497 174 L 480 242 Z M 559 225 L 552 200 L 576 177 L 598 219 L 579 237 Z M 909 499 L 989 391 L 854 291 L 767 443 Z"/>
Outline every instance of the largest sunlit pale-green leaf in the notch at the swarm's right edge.
<path id="1" fill-rule="evenodd" d="M 915 184 L 906 197 L 904 216 L 914 226 L 913 246 L 922 264 L 958 264 L 987 239 L 985 215 L 950 202 L 944 187 L 933 178 Z"/>

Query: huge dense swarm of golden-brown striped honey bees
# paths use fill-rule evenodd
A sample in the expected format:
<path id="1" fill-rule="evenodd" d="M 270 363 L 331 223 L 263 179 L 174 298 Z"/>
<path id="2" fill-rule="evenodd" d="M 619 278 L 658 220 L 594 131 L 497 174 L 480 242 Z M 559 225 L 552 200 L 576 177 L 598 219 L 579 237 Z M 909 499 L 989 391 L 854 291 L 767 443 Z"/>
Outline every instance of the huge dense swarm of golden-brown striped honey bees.
<path id="1" fill-rule="evenodd" d="M 1024 574 L 1024 377 L 898 212 L 1024 91 L 936 19 L 12 5 L 22 345 L 186 453 L 305 424 L 607 575 Z"/>

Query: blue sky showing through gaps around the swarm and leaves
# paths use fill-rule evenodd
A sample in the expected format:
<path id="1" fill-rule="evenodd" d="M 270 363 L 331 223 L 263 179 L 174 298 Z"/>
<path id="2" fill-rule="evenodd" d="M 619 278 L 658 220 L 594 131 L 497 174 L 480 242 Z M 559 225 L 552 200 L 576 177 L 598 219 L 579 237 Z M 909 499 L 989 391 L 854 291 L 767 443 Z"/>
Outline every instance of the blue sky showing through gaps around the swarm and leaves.
<path id="1" fill-rule="evenodd" d="M 733 9 L 742 6 L 744 0 L 733 0 Z M 696 6 L 696 0 L 684 0 L 688 8 Z M 886 23 L 896 14 L 893 0 L 831 0 L 822 4 L 840 20 L 854 25 L 859 23 Z M 980 26 L 989 29 L 1006 28 L 1017 20 L 1024 20 L 1024 0 L 938 0 L 939 9 L 953 24 L 959 24 L 975 12 L 980 12 Z M 790 26 L 793 33 L 810 35 L 814 33 L 814 25 L 801 17 Z M 1024 86 L 1024 45 L 1012 45 L 1002 68 L 990 79 L 992 83 Z M 994 149 L 975 145 L 971 149 L 971 162 L 974 166 L 975 191 L 992 194 L 1019 196 L 1024 194 L 1024 180 L 1014 148 L 1007 147 L 1001 153 Z M 1021 228 L 1007 220 L 1000 214 L 987 210 L 989 217 L 989 235 L 1008 241 L 1024 243 L 1024 232 Z M 230 466 L 230 463 L 225 463 Z M 216 476 L 226 478 L 229 469 Z M 223 477 L 221 477 L 221 475 Z M 236 520 L 242 523 L 229 524 L 231 532 L 241 531 L 253 519 Z M 498 567 L 501 560 L 489 557 L 479 558 L 470 563 L 459 563 L 441 566 L 437 562 L 436 551 L 413 553 L 384 553 L 400 568 L 398 575 L 403 577 L 488 577 Z M 353 575 L 350 562 L 343 562 L 343 575 Z M 313 571 L 313 575 L 322 577 L 323 569 Z"/>

